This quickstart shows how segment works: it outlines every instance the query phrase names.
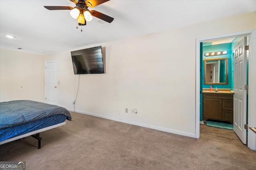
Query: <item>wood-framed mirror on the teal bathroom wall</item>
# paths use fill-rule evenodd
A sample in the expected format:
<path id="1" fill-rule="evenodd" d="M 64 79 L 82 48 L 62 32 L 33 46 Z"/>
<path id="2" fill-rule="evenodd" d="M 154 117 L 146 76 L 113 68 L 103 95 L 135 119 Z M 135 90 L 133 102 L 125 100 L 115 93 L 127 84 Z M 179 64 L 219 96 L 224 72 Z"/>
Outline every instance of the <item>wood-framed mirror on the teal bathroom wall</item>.
<path id="1" fill-rule="evenodd" d="M 228 58 L 204 59 L 204 84 L 228 84 Z"/>

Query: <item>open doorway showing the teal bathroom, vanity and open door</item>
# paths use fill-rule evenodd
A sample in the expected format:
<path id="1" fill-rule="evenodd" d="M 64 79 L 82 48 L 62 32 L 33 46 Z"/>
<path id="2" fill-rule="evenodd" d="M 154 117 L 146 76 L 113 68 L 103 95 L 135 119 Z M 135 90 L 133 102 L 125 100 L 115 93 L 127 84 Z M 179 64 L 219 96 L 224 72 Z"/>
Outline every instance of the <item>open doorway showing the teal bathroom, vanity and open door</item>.
<path id="1" fill-rule="evenodd" d="M 234 127 L 234 132 L 244 144 L 246 130 L 242 126 L 247 124 L 247 91 L 243 85 L 247 84 L 248 75 L 247 39 L 248 36 L 241 36 L 204 41 L 200 55 L 200 121 L 209 127 L 232 131 Z M 237 98 L 237 94 L 241 96 Z"/>

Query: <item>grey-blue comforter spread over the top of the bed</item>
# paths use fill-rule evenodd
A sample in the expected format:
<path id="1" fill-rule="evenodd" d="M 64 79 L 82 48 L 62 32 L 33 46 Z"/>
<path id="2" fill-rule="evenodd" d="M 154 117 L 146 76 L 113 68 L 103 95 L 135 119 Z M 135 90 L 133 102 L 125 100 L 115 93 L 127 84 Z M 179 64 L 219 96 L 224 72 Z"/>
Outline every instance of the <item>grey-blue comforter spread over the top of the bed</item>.
<path id="1" fill-rule="evenodd" d="M 0 129 L 58 114 L 65 115 L 66 119 L 71 120 L 70 113 L 64 107 L 30 100 L 1 102 Z"/>

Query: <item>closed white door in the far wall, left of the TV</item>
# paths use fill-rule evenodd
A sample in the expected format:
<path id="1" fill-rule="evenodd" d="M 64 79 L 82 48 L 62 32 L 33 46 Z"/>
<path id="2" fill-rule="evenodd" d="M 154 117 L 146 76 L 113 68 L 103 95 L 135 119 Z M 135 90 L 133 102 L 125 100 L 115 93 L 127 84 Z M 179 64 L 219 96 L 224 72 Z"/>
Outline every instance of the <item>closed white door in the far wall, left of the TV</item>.
<path id="1" fill-rule="evenodd" d="M 45 96 L 47 104 L 57 104 L 57 61 L 45 64 Z"/>

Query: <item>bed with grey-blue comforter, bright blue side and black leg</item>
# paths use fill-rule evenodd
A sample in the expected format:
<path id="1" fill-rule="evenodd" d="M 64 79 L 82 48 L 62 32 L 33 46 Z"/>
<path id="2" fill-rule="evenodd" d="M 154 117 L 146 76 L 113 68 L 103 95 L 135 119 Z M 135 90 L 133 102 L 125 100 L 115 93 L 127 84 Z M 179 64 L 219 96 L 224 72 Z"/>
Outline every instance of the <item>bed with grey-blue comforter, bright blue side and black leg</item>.
<path id="1" fill-rule="evenodd" d="M 64 107 L 15 100 L 0 103 L 0 145 L 32 136 L 41 148 L 40 133 L 66 124 L 71 115 Z"/>

